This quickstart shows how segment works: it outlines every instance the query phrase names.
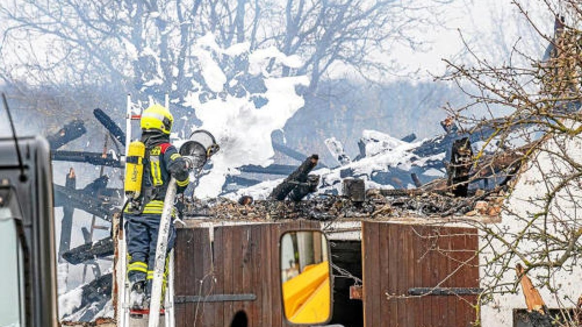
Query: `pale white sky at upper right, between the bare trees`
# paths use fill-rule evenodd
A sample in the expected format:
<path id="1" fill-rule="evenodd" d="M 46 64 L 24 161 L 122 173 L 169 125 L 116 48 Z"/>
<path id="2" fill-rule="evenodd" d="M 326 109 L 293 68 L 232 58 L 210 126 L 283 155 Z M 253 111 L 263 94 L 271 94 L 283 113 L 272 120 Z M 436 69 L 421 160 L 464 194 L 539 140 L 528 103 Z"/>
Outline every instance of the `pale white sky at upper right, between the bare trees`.
<path id="1" fill-rule="evenodd" d="M 423 2 L 418 0 L 418 5 Z M 543 33 L 553 33 L 552 14 L 542 1 L 519 2 Z M 533 56 L 541 56 L 547 45 L 511 0 L 451 0 L 443 5 L 439 21 L 441 24 L 421 26 L 410 35 L 420 47 L 393 44 L 378 54 L 377 58 L 395 61 L 402 67 L 398 74 L 382 80 L 432 80 L 446 72 L 443 59 L 471 62 L 467 46 L 480 58 L 501 65 L 508 61 L 514 44 Z M 331 75 L 342 76 L 345 72 L 343 67 L 335 66 Z"/>

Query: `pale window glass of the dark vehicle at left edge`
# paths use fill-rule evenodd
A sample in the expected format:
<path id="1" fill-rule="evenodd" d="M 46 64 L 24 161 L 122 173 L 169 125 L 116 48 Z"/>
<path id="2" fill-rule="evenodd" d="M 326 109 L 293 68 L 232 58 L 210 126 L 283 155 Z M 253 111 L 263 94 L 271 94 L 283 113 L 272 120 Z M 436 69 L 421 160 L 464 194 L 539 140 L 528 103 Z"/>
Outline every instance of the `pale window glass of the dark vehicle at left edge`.
<path id="1" fill-rule="evenodd" d="M 14 219 L 0 208 L 0 326 L 20 326 L 20 246 Z"/>

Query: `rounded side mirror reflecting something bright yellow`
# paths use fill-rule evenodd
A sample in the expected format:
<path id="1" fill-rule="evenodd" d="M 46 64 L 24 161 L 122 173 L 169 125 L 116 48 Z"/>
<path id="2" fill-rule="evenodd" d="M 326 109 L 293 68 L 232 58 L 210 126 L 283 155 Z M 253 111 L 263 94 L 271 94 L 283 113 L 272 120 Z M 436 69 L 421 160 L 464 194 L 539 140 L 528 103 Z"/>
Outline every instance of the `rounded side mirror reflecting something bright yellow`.
<path id="1" fill-rule="evenodd" d="M 325 324 L 331 319 L 329 243 L 319 230 L 286 232 L 279 241 L 283 311 L 292 324 Z"/>

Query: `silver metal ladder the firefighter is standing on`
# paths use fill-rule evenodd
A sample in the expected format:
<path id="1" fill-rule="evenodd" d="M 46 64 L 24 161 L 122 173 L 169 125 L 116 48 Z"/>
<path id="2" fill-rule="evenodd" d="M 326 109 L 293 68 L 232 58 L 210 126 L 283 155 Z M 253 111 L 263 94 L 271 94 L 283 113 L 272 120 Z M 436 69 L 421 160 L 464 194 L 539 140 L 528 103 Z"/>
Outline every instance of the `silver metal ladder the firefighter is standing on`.
<path id="1" fill-rule="evenodd" d="M 153 104 L 152 99 L 150 99 L 150 105 Z M 169 108 L 169 96 L 168 94 L 165 95 L 165 106 Z M 139 114 L 133 113 L 133 109 L 138 108 Z M 126 147 L 125 147 L 125 158 L 127 158 L 127 151 L 129 149 L 129 143 L 132 140 L 132 121 L 133 120 L 140 120 L 141 119 L 141 112 L 142 112 L 142 104 L 141 101 L 137 101 L 136 104 L 133 104 L 131 95 L 127 95 L 127 107 L 126 107 Z M 127 198 L 124 198 L 124 203 L 127 201 Z M 123 226 L 119 226 L 120 234 L 118 235 L 117 241 L 117 259 L 115 261 L 115 278 L 116 278 L 116 294 L 113 296 L 117 298 L 116 304 L 116 321 L 118 327 L 138 327 L 138 326 L 146 326 L 144 324 L 147 323 L 147 326 L 158 326 L 159 319 L 157 321 L 151 321 L 148 319 L 132 319 L 130 317 L 130 304 L 129 304 L 129 280 L 127 280 L 127 244 L 126 244 L 126 234 L 125 228 Z M 164 306 L 165 306 L 165 315 L 164 315 L 164 326 L 165 327 L 175 327 L 175 315 L 174 315 L 174 251 L 172 250 L 169 254 L 169 262 L 168 262 L 168 280 L 167 280 L 167 287 L 166 287 L 166 294 L 164 298 Z M 157 280 L 159 278 L 154 277 L 154 285 L 160 284 L 161 280 Z M 152 292 L 154 293 L 154 292 Z M 153 295 L 153 294 L 152 294 Z M 158 295 L 159 299 L 159 295 Z M 154 299 L 155 300 L 155 299 Z M 159 303 L 159 300 L 158 300 Z M 154 314 L 154 317 L 159 317 L 159 311 L 157 314 Z"/>

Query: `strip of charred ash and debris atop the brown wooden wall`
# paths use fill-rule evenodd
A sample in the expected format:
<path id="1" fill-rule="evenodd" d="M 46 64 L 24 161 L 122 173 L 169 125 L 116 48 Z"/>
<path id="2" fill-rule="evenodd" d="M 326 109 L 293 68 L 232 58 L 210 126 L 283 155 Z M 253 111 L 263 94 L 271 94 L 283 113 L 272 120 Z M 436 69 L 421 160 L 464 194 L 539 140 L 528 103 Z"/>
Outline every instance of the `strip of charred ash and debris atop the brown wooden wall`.
<path id="1" fill-rule="evenodd" d="M 217 198 L 187 201 L 184 216 L 254 221 L 496 217 L 501 213 L 505 193 L 505 187 L 470 190 L 467 197 L 455 197 L 442 191 L 370 189 L 365 191 L 363 201 L 349 196 L 321 195 L 305 201 L 247 200 L 243 204 Z"/>

